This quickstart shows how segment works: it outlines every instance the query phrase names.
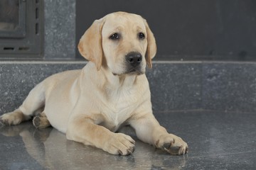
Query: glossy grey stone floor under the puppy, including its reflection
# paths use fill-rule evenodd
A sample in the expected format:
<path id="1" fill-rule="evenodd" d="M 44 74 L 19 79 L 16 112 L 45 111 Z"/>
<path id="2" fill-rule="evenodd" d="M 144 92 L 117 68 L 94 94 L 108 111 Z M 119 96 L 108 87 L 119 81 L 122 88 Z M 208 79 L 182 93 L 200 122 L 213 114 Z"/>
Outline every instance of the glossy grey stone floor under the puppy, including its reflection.
<path id="1" fill-rule="evenodd" d="M 53 128 L 31 122 L 0 128 L 0 169 L 256 169 L 256 114 L 174 111 L 156 118 L 188 142 L 189 152 L 172 156 L 137 140 L 129 127 L 120 132 L 136 140 L 129 156 L 65 139 Z"/>

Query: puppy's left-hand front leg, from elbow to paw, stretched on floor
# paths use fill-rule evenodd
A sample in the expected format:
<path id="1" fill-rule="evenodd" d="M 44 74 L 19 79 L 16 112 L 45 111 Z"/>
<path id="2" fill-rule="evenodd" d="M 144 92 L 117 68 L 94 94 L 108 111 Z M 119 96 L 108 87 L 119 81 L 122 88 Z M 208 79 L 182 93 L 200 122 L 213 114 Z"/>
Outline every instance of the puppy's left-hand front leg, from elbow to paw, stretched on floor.
<path id="1" fill-rule="evenodd" d="M 82 142 L 103 149 L 110 154 L 128 155 L 134 152 L 135 141 L 122 133 L 114 133 L 96 125 L 92 118 L 79 115 L 70 120 L 67 130 L 68 140 Z"/>

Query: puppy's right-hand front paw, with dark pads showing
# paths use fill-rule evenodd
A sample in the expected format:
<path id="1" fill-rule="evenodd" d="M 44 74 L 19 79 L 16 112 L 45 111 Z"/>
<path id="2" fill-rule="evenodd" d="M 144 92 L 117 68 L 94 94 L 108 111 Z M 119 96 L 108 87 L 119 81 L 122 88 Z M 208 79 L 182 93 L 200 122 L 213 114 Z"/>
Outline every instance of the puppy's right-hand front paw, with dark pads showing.
<path id="1" fill-rule="evenodd" d="M 161 135 L 159 140 L 156 141 L 156 147 L 174 155 L 186 154 L 188 152 L 187 143 L 181 137 L 173 134 Z"/>

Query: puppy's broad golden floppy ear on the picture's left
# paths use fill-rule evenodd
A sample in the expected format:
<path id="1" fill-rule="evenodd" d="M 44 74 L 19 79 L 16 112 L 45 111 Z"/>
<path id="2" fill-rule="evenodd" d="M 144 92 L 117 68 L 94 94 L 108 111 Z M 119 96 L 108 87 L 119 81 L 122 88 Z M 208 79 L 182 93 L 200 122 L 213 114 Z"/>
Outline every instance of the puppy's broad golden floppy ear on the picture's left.
<path id="1" fill-rule="evenodd" d="M 82 35 L 80 42 L 78 44 L 78 50 L 82 57 L 94 62 L 97 70 L 100 70 L 102 65 L 102 26 L 105 20 L 102 18 L 100 20 L 95 20 L 92 26 L 85 31 Z"/>

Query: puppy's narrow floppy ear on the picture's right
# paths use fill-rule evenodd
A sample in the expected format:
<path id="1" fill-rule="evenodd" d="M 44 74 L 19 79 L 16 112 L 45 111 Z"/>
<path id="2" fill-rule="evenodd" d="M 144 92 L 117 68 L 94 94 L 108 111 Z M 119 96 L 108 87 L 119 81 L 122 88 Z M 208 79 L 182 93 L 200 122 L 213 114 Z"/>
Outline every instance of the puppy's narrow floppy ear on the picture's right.
<path id="1" fill-rule="evenodd" d="M 146 47 L 146 64 L 149 67 L 149 69 L 151 69 L 152 68 L 151 60 L 156 55 L 156 40 L 146 20 L 144 20 L 144 24 L 146 26 L 146 40 L 148 43 Z"/>

